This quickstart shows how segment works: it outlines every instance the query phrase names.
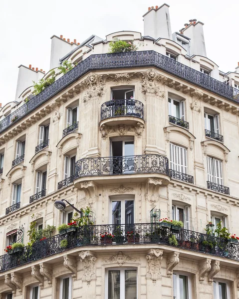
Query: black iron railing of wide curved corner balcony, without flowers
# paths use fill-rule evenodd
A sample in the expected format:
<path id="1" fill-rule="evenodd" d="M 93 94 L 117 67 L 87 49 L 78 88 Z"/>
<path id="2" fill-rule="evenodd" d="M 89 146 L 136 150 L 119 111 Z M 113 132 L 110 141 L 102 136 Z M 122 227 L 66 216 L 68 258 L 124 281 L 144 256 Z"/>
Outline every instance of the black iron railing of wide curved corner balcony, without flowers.
<path id="1" fill-rule="evenodd" d="M 169 160 L 159 154 L 84 158 L 76 162 L 76 178 L 90 175 L 164 173 L 169 175 Z"/>

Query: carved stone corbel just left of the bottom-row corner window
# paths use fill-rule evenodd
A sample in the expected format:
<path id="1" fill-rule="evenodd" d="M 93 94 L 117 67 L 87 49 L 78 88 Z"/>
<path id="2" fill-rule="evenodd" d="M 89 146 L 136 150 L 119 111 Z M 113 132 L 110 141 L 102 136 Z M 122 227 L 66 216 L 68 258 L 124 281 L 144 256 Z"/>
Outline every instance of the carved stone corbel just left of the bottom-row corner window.
<path id="1" fill-rule="evenodd" d="M 81 262 L 83 263 L 83 276 L 87 285 L 90 284 L 92 276 L 95 275 L 95 261 L 96 257 L 89 251 L 81 251 L 79 253 Z"/>

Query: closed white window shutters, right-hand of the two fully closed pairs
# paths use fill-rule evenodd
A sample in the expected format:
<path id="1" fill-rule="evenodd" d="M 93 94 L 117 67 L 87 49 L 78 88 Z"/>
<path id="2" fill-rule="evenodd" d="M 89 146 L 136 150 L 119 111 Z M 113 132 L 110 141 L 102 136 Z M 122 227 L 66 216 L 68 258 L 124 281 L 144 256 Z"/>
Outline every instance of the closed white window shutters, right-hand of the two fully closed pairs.
<path id="1" fill-rule="evenodd" d="M 207 156 L 208 181 L 223 185 L 223 166 L 222 161 Z"/>

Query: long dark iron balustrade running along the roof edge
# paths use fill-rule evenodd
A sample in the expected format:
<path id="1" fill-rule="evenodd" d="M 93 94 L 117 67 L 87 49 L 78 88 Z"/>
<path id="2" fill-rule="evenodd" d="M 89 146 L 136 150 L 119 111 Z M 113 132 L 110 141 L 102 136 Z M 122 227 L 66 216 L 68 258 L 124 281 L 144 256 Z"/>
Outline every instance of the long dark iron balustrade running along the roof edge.
<path id="1" fill-rule="evenodd" d="M 90 55 L 85 60 L 78 63 L 71 71 L 53 82 L 41 93 L 31 98 L 26 104 L 7 115 L 0 122 L 0 132 L 3 132 L 12 124 L 18 122 L 25 115 L 29 114 L 42 103 L 58 94 L 61 90 L 65 89 L 67 86 L 91 70 L 143 66 L 154 66 L 162 69 L 188 82 L 201 86 L 211 92 L 239 103 L 238 89 L 155 51 L 150 50 L 114 54 L 95 54 Z M 11 120 L 15 118 L 16 120 L 11 122 Z"/>

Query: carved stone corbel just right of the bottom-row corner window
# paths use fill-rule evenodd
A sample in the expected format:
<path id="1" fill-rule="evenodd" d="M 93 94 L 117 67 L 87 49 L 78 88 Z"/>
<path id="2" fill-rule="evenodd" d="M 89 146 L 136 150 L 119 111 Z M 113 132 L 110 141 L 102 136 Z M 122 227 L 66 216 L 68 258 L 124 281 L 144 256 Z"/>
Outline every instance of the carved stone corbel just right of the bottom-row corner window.
<path id="1" fill-rule="evenodd" d="M 146 278 L 150 278 L 155 284 L 161 279 L 161 262 L 163 259 L 163 249 L 150 249 L 146 256 L 148 269 Z"/>

